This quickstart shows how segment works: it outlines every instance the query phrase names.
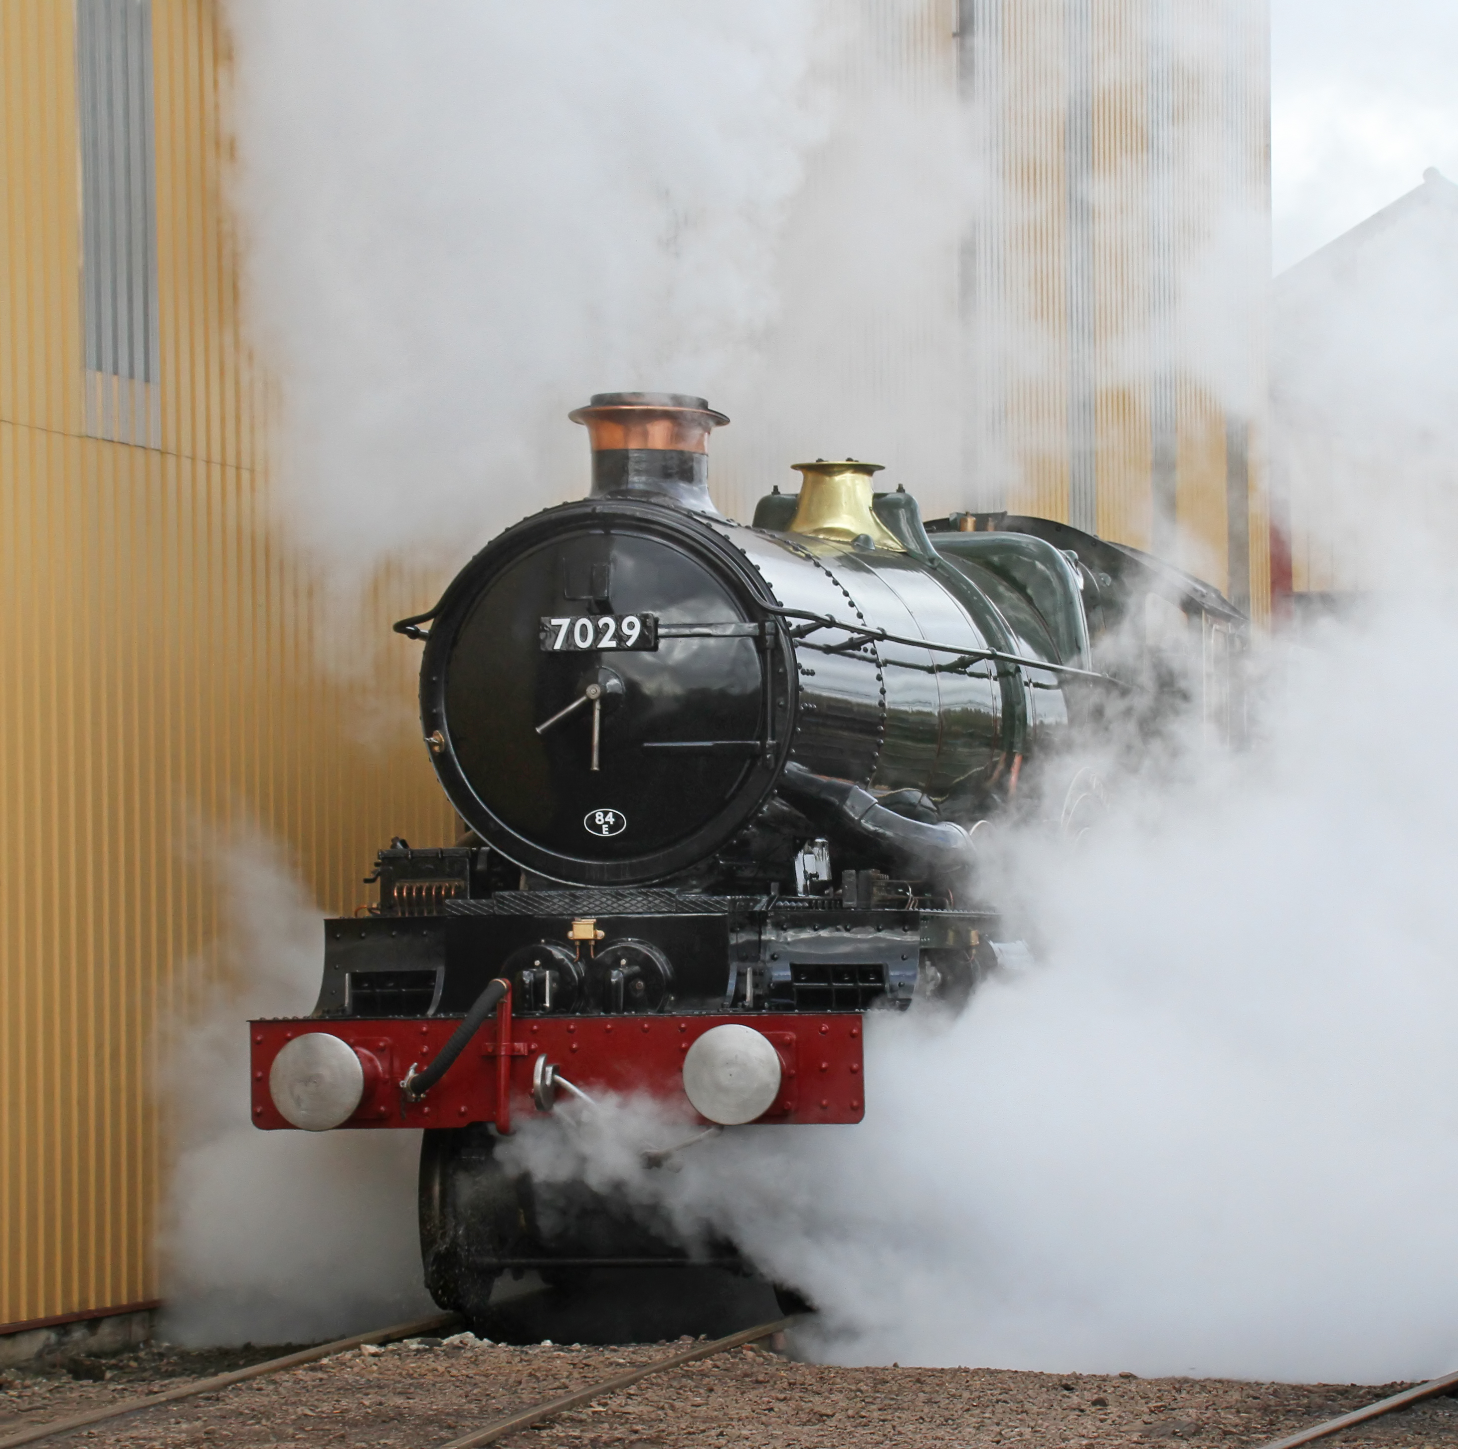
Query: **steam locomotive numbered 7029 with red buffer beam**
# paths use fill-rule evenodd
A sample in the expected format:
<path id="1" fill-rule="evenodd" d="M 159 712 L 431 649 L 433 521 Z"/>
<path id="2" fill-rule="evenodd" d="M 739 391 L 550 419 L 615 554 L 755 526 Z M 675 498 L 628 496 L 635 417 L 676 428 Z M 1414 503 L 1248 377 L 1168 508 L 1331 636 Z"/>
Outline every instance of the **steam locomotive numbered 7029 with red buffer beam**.
<path id="1" fill-rule="evenodd" d="M 313 1013 L 249 1027 L 260 1128 L 424 1128 L 426 1283 L 475 1319 L 504 1271 L 736 1261 L 513 1175 L 513 1124 L 636 1093 L 700 1132 L 859 1122 L 865 1014 L 955 1008 L 1021 950 L 977 894 L 991 823 L 1083 827 L 1098 791 L 1060 770 L 1168 692 L 1171 638 L 1207 725 L 1239 712 L 1244 617 L 1147 555 L 927 522 L 853 458 L 796 464 L 744 525 L 709 496 L 728 419 L 703 398 L 572 419 L 590 495 L 395 626 L 468 833 L 381 851 L 370 913 L 325 922 Z"/>

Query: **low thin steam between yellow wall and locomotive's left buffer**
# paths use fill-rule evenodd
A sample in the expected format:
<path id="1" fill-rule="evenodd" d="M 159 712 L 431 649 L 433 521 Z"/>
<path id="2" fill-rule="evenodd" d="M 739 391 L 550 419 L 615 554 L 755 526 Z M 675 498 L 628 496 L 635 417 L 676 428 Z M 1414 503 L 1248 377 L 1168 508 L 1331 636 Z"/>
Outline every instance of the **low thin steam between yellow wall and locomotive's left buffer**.
<path id="1" fill-rule="evenodd" d="M 313 1010 L 321 915 L 261 842 L 219 854 L 225 982 L 166 1023 L 175 1160 L 162 1232 L 182 1344 L 311 1342 L 430 1313 L 416 1252 L 420 1134 L 260 1132 L 254 1016 Z"/>

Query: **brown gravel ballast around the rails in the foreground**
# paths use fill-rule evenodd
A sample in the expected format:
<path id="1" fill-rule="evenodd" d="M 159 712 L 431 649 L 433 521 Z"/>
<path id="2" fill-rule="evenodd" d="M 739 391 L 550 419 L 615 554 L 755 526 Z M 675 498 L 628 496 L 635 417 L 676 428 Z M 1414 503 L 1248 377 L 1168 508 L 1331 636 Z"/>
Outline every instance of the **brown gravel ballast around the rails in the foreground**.
<path id="1" fill-rule="evenodd" d="M 48 1443 L 117 1446 L 379 1445 L 429 1449 L 493 1418 L 690 1342 L 506 1347 L 467 1338 L 353 1350 L 220 1394 L 159 1405 Z M 793 1337 L 792 1337 L 793 1348 Z M 144 1396 L 286 1348 L 121 1359 L 10 1370 L 0 1439 L 41 1420 Z M 95 1377 L 102 1364 L 105 1379 Z M 82 1376 L 74 1376 L 80 1373 Z M 685 1445 L 872 1446 L 1261 1445 L 1404 1385 L 1018 1373 L 999 1369 L 841 1369 L 741 1348 L 655 1375 L 509 1440 L 516 1449 L 679 1449 Z M 1343 1449 L 1458 1449 L 1458 1399 L 1436 1398 L 1349 1429 Z"/>

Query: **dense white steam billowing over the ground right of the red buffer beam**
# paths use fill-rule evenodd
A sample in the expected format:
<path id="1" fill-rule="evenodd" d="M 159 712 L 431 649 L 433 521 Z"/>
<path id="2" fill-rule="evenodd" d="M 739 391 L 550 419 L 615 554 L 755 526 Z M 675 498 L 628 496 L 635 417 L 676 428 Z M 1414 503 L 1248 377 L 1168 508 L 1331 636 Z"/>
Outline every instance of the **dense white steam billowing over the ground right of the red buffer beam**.
<path id="1" fill-rule="evenodd" d="M 1257 754 L 1126 791 L 1076 852 L 1018 842 L 1038 965 L 952 1023 L 872 1017 L 863 1125 L 730 1131 L 679 1175 L 609 1135 L 589 1170 L 730 1230 L 841 1361 L 1452 1369 L 1458 770 L 1363 699 L 1420 676 L 1458 709 L 1411 625 L 1302 657 Z"/>

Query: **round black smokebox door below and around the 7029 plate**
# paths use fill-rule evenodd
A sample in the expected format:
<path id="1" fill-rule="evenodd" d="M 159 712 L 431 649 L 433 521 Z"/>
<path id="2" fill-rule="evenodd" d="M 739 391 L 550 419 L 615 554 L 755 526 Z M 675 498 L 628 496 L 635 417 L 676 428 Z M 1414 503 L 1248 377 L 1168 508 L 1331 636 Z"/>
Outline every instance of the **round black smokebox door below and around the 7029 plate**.
<path id="1" fill-rule="evenodd" d="M 725 741 L 749 746 L 764 728 L 754 639 L 541 649 L 544 616 L 608 610 L 653 613 L 660 626 L 745 619 L 726 581 L 672 541 L 582 533 L 507 560 L 448 664 L 451 741 L 471 789 L 512 833 L 567 859 L 630 861 L 691 839 L 754 766 L 757 750 Z M 583 700 L 589 686 L 595 702 Z"/>

